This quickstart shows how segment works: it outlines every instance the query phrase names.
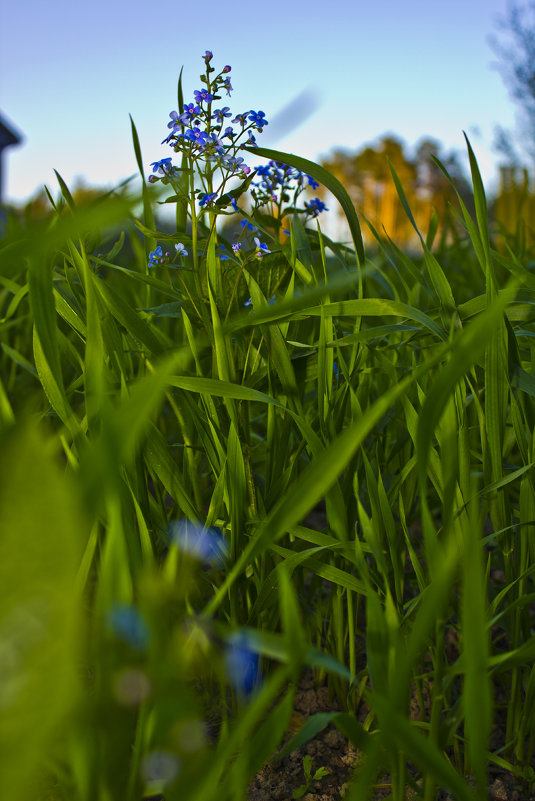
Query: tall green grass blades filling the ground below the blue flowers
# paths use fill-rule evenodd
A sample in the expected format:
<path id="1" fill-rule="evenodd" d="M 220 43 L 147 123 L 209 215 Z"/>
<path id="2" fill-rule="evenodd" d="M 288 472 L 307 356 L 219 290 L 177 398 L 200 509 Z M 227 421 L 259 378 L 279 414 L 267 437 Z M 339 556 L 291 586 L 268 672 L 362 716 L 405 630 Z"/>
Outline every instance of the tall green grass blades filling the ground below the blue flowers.
<path id="1" fill-rule="evenodd" d="M 463 247 L 433 249 L 435 227 L 420 256 L 375 229 L 367 255 L 341 184 L 262 149 L 330 189 L 350 246 L 290 215 L 229 266 L 183 203 L 158 232 L 145 184 L 139 219 L 139 198 L 77 207 L 60 179 L 48 219 L 9 221 L 0 797 L 245 798 L 307 665 L 345 711 L 286 751 L 334 723 L 365 755 L 346 799 L 385 768 L 394 801 L 413 777 L 425 801 L 483 801 L 493 763 L 533 783 L 535 278 L 496 250 L 468 149 Z M 147 268 L 179 241 L 179 269 Z M 177 546 L 184 520 L 222 534 L 223 562 Z M 251 693 L 225 671 L 236 632 Z"/>

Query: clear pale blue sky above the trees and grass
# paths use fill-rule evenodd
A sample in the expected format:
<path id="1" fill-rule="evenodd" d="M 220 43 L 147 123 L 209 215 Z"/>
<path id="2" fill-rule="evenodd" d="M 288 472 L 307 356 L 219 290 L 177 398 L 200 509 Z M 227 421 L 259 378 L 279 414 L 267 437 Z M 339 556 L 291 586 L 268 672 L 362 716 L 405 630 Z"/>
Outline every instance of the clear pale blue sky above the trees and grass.
<path id="1" fill-rule="evenodd" d="M 54 168 L 71 187 L 136 173 L 129 114 L 148 174 L 170 155 L 160 142 L 180 68 L 189 102 L 207 49 L 217 69 L 232 66 L 233 114 L 261 109 L 271 121 L 259 145 L 319 160 L 388 132 L 464 153 L 465 130 L 491 188 L 494 126 L 515 126 L 488 43 L 506 11 L 507 0 L 6 3 L 0 114 L 24 143 L 4 151 L 5 197 L 45 183 L 56 194 Z M 289 132 L 288 106 L 300 118 Z"/>

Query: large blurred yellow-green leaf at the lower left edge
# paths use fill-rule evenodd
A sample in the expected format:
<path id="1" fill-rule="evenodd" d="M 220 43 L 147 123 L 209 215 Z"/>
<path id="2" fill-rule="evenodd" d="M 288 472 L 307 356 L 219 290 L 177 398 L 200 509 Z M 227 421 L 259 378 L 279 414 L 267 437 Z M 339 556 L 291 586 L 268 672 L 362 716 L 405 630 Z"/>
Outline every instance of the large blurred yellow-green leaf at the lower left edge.
<path id="1" fill-rule="evenodd" d="M 78 692 L 84 523 L 37 424 L 0 440 L 0 798 L 35 801 Z"/>

